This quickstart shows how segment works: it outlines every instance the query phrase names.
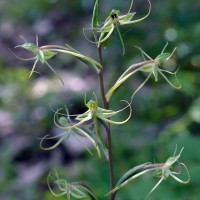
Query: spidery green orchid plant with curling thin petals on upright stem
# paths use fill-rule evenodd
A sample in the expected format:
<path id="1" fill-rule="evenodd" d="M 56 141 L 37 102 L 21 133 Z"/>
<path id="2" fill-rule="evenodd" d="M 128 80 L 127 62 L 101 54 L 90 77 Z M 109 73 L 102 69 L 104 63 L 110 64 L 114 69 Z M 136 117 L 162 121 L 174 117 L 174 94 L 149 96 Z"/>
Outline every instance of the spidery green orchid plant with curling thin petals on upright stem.
<path id="1" fill-rule="evenodd" d="M 128 170 L 124 175 L 119 178 L 119 181 L 115 184 L 114 180 L 114 166 L 113 166 L 113 152 L 112 152 L 112 132 L 111 132 L 111 125 L 121 125 L 125 124 L 130 118 L 132 114 L 131 105 L 134 100 L 135 94 L 142 89 L 142 87 L 146 84 L 146 82 L 153 76 L 155 81 L 158 81 L 158 76 L 160 75 L 163 77 L 167 83 L 175 89 L 179 89 L 181 87 L 180 83 L 176 78 L 176 73 L 165 70 L 162 68 L 162 65 L 167 62 L 174 54 L 175 50 L 172 53 L 166 53 L 166 47 L 163 48 L 160 54 L 156 56 L 155 59 L 152 59 L 147 53 L 145 53 L 140 47 L 136 47 L 142 53 L 143 57 L 146 57 L 144 61 L 139 63 L 133 63 L 129 66 L 116 80 L 116 82 L 107 90 L 105 88 L 105 81 L 104 81 L 104 73 L 103 69 L 105 66 L 103 65 L 103 56 L 102 56 L 102 47 L 107 44 L 107 41 L 112 37 L 112 33 L 114 29 L 116 29 L 120 42 L 122 44 L 122 54 L 125 54 L 125 45 L 123 42 L 122 35 L 120 33 L 119 27 L 125 25 L 132 25 L 138 22 L 143 21 L 147 18 L 151 12 L 151 3 L 147 0 L 149 4 L 147 14 L 139 19 L 133 19 L 135 17 L 135 12 L 131 12 L 133 6 L 133 0 L 131 1 L 130 8 L 128 12 L 124 15 L 120 14 L 119 10 L 112 10 L 105 21 L 102 23 L 102 26 L 99 27 L 99 18 L 98 18 L 98 7 L 99 7 L 99 0 L 96 0 L 93 15 L 92 15 L 92 32 L 94 36 L 93 42 L 98 50 L 98 57 L 99 60 L 95 60 L 84 54 L 80 53 L 79 51 L 75 50 L 69 45 L 59 46 L 59 45 L 45 45 L 39 46 L 38 44 L 38 37 L 36 37 L 36 44 L 27 42 L 23 37 L 24 43 L 21 45 L 16 46 L 17 48 L 23 48 L 33 54 L 32 58 L 20 58 L 24 60 L 34 60 L 32 70 L 30 72 L 30 76 L 36 71 L 36 65 L 38 62 L 41 64 L 46 64 L 61 80 L 62 77 L 57 74 L 56 70 L 49 64 L 49 60 L 52 57 L 55 57 L 58 53 L 67 54 L 73 56 L 74 58 L 78 58 L 82 62 L 84 62 L 87 66 L 91 69 L 95 70 L 99 77 L 99 87 L 100 87 L 100 94 L 101 94 L 101 103 L 94 94 L 94 99 L 90 99 L 86 101 L 86 97 L 84 100 L 85 107 L 87 111 L 81 114 L 71 115 L 67 108 L 65 108 L 65 112 L 62 112 L 63 108 L 59 108 L 54 111 L 54 124 L 57 126 L 62 132 L 55 136 L 46 135 L 41 138 L 40 146 L 43 150 L 52 150 L 56 148 L 63 140 L 68 139 L 71 135 L 79 136 L 80 138 L 87 138 L 92 147 L 96 150 L 98 156 L 101 158 L 102 154 L 105 156 L 105 159 L 108 162 L 109 166 L 109 177 L 110 177 L 110 189 L 108 189 L 107 196 L 110 196 L 111 200 L 116 199 L 117 192 L 129 184 L 131 181 L 135 180 L 136 178 L 147 174 L 152 173 L 160 178 L 158 183 L 152 188 L 152 190 L 147 195 L 149 195 L 161 184 L 162 181 L 172 177 L 179 183 L 186 184 L 190 180 L 189 172 L 187 167 L 183 163 L 179 163 L 178 159 L 181 156 L 183 148 L 180 150 L 180 153 L 176 155 L 176 151 L 173 156 L 169 157 L 166 162 L 164 163 L 151 163 L 145 162 L 138 166 L 134 166 L 132 169 Z M 110 109 L 110 102 L 114 96 L 114 94 L 118 91 L 119 87 L 124 86 L 126 81 L 130 79 L 133 75 L 137 72 L 144 72 L 148 73 L 147 77 L 143 81 L 143 83 L 135 90 L 131 91 L 132 96 L 129 101 L 123 100 L 127 105 L 117 111 Z M 38 72 L 37 72 L 38 73 Z M 171 82 L 166 76 L 174 75 L 177 83 Z M 102 104 L 102 105 L 101 105 Z M 125 109 L 129 109 L 129 114 L 126 119 L 122 121 L 115 121 L 112 119 L 113 116 L 120 114 Z M 105 138 L 106 135 L 106 138 Z M 56 142 L 52 146 L 46 146 L 46 141 L 48 140 L 56 140 Z M 92 154 L 91 148 L 84 145 L 89 153 Z M 172 167 L 175 163 L 178 162 L 179 167 L 183 167 L 186 170 L 187 180 L 181 180 L 177 175 L 181 172 L 172 171 Z M 69 182 L 65 179 L 61 179 L 56 170 L 49 173 L 47 178 L 48 186 L 51 193 L 56 196 L 66 195 L 67 199 L 71 197 L 76 199 L 88 198 L 92 200 L 96 200 L 97 197 L 93 193 L 92 189 L 87 185 L 80 183 L 80 182 Z"/>

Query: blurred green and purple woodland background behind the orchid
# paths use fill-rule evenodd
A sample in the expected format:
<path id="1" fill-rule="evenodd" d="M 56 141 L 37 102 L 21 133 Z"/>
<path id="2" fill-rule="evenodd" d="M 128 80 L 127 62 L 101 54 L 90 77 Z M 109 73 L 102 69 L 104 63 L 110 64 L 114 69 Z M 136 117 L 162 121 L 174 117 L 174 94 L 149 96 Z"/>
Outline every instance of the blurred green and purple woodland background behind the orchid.
<path id="1" fill-rule="evenodd" d="M 122 56 L 120 41 L 114 33 L 103 50 L 106 88 L 120 73 L 143 60 L 135 46 L 151 57 L 157 56 L 166 42 L 167 51 L 177 47 L 173 60 L 166 66 L 180 68 L 180 90 L 165 80 L 153 78 L 135 96 L 133 116 L 123 126 L 112 126 L 116 180 L 131 167 L 144 162 L 164 162 L 175 150 L 184 147 L 181 162 L 188 167 L 191 182 L 181 185 L 170 178 L 152 194 L 152 200 L 200 199 L 200 1 L 152 0 L 152 12 L 142 21 L 121 27 L 126 46 Z M 59 133 L 53 124 L 53 112 L 67 105 L 75 113 L 84 111 L 84 94 L 98 88 L 94 71 L 70 56 L 59 55 L 50 61 L 63 77 L 65 85 L 45 66 L 37 65 L 42 74 L 28 78 L 33 63 L 16 58 L 30 55 L 14 47 L 27 41 L 39 45 L 69 44 L 97 59 L 95 45 L 83 35 L 90 34 L 94 0 L 1 0 L 0 1 L 0 199 L 53 200 L 46 177 L 56 168 L 60 175 L 91 185 L 99 199 L 107 199 L 108 168 L 104 159 L 90 156 L 74 138 L 53 151 L 42 151 L 39 139 Z M 102 23 L 112 9 L 126 13 L 130 0 L 99 0 Z M 139 18 L 148 9 L 147 1 L 134 1 Z M 10 50 L 11 51 L 10 51 Z M 113 73 L 114 72 L 114 73 Z M 144 80 L 138 73 L 114 95 L 111 108 L 121 99 L 129 100 L 130 91 Z M 174 81 L 174 79 L 172 79 Z M 97 92 L 98 94 L 99 92 Z M 125 115 L 126 116 L 126 115 Z M 124 116 L 124 117 L 125 117 Z M 121 119 L 121 118 L 120 118 Z M 158 181 L 145 176 L 122 189 L 117 199 L 142 200 Z"/>

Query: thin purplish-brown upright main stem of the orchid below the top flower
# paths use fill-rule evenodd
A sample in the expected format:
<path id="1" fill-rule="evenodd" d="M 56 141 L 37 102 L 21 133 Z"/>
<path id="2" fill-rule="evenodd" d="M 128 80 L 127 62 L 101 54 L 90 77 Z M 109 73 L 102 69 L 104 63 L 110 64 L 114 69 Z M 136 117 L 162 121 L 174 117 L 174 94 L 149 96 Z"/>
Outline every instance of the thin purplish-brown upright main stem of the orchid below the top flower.
<path id="1" fill-rule="evenodd" d="M 103 66 L 102 60 L 102 51 L 101 51 L 101 44 L 97 46 L 98 48 L 98 55 L 99 55 L 99 63 Z M 105 109 L 109 109 L 109 102 L 106 100 L 105 95 L 105 87 L 104 87 L 104 80 L 103 80 L 103 68 L 99 70 L 99 84 L 100 84 L 100 91 L 101 91 L 101 98 L 103 101 L 103 105 Z M 114 189 L 114 169 L 113 169 L 113 158 L 112 158 L 112 138 L 111 138 L 111 130 L 110 126 L 106 126 L 106 137 L 107 137 L 107 145 L 108 145 L 108 162 L 109 162 L 109 176 L 110 176 L 110 190 Z M 110 200 L 115 199 L 115 194 L 110 194 Z"/>

